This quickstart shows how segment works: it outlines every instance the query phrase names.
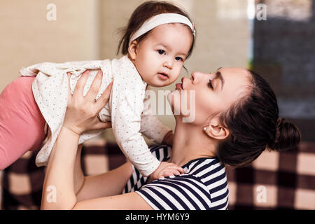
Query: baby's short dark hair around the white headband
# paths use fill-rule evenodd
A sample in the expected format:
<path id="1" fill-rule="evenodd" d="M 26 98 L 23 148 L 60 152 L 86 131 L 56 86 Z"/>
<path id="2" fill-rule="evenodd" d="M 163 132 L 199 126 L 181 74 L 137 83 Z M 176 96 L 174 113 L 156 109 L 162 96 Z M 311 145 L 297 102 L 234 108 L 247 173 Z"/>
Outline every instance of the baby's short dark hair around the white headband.
<path id="1" fill-rule="evenodd" d="M 123 37 L 119 41 L 117 54 L 119 53 L 121 48 L 122 54 L 127 55 L 130 36 L 135 31 L 137 31 L 141 27 L 141 25 L 143 25 L 144 22 L 146 22 L 146 20 L 162 13 L 177 13 L 186 16 L 188 20 L 190 20 L 188 14 L 184 10 L 182 10 L 178 6 L 175 6 L 172 3 L 168 3 L 166 1 L 146 1 L 142 3 L 140 6 L 138 6 L 136 10 L 134 10 L 127 24 L 127 27 L 121 30 L 123 32 Z M 148 33 L 149 32 L 146 32 L 146 34 L 139 36 L 139 38 L 137 38 L 137 41 L 140 42 L 146 35 L 148 35 Z M 188 51 L 188 55 L 186 58 L 188 58 L 193 52 L 194 45 L 195 38 L 193 38 L 193 43 L 190 47 L 190 50 Z"/>

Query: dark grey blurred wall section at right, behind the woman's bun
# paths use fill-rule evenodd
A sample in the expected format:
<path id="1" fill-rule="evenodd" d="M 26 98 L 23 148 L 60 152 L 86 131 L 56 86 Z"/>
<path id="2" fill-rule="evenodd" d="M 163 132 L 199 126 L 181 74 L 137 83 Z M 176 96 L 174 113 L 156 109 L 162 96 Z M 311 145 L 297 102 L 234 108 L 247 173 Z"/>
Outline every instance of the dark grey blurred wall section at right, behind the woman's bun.
<path id="1" fill-rule="evenodd" d="M 276 93 L 279 116 L 300 128 L 303 141 L 315 141 L 315 3 L 260 2 L 267 20 L 255 20 L 253 67 Z"/>

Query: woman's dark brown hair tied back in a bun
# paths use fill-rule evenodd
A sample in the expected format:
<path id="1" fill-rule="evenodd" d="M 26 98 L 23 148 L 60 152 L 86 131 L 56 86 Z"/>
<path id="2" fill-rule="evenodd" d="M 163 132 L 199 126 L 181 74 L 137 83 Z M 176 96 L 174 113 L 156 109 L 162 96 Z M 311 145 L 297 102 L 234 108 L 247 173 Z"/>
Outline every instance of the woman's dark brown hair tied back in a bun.
<path id="1" fill-rule="evenodd" d="M 221 123 L 230 131 L 218 147 L 218 158 L 232 167 L 245 167 L 268 148 L 288 151 L 301 139 L 298 128 L 279 118 L 276 96 L 269 84 L 249 71 L 251 90 L 228 111 L 221 113 Z"/>

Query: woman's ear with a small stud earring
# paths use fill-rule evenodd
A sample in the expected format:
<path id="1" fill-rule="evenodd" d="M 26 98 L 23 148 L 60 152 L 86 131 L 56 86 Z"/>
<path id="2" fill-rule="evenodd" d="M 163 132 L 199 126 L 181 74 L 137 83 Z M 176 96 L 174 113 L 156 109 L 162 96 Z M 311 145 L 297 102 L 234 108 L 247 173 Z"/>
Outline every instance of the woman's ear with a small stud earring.
<path id="1" fill-rule="evenodd" d="M 230 134 L 228 128 L 223 127 L 218 118 L 212 118 L 207 127 L 204 127 L 204 132 L 213 139 L 223 140 Z"/>

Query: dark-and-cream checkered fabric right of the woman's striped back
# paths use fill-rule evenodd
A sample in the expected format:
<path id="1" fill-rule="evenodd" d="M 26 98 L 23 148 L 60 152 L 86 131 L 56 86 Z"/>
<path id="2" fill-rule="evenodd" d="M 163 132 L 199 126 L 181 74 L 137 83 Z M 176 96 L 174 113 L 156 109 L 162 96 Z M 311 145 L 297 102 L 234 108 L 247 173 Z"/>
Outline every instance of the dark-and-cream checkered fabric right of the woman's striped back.
<path id="1" fill-rule="evenodd" d="M 227 168 L 230 209 L 315 209 L 315 143 L 265 151 L 251 167 Z"/>

